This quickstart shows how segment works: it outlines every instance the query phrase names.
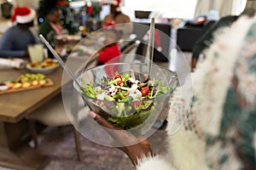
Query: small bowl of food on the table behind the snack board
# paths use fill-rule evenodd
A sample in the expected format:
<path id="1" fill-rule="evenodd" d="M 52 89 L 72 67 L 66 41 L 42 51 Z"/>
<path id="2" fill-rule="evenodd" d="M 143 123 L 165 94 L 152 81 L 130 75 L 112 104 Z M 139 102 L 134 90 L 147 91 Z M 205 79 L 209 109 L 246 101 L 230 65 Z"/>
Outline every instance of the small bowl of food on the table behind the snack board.
<path id="1" fill-rule="evenodd" d="M 44 59 L 42 62 L 28 63 L 26 69 L 33 73 L 49 74 L 54 72 L 59 65 L 56 59 Z"/>

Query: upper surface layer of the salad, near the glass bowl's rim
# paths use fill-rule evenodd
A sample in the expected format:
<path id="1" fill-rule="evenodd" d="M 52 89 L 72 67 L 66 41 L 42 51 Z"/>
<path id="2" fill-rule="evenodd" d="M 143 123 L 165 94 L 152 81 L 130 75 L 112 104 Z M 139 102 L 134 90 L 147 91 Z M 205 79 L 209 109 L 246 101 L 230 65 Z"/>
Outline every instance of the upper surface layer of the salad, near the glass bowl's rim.
<path id="1" fill-rule="evenodd" d="M 113 78 L 103 77 L 99 86 L 93 87 L 88 83 L 84 87 L 90 98 L 115 102 L 154 99 L 170 90 L 172 88 L 163 87 L 160 80 L 150 80 L 148 75 L 144 75 L 144 81 L 141 82 L 129 74 L 116 74 Z"/>

